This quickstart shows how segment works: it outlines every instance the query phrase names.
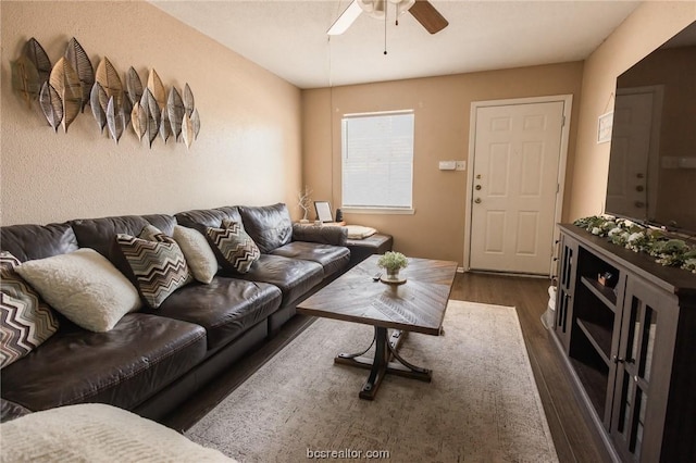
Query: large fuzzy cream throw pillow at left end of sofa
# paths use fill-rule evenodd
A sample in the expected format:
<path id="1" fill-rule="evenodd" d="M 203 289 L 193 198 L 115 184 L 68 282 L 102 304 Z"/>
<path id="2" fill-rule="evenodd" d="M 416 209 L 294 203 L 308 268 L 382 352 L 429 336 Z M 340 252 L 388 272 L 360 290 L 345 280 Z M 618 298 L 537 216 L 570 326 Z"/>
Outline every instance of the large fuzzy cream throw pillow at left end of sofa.
<path id="1" fill-rule="evenodd" d="M 24 262 L 16 272 L 53 309 L 90 331 L 110 330 L 141 305 L 135 286 L 94 249 Z"/>

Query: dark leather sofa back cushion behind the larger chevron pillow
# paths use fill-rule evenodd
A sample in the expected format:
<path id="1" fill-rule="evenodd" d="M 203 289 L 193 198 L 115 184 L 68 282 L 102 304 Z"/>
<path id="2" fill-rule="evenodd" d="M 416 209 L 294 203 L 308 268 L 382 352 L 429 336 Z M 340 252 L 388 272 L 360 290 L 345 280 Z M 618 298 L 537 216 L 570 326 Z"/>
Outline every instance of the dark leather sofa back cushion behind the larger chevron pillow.
<path id="1" fill-rule="evenodd" d="M 171 215 L 122 215 L 102 218 L 70 221 L 80 248 L 91 248 L 116 266 L 132 280 L 133 274 L 123 253 L 116 246 L 116 235 L 138 236 L 147 225 L 153 225 L 165 235 L 172 236 L 176 220 Z"/>

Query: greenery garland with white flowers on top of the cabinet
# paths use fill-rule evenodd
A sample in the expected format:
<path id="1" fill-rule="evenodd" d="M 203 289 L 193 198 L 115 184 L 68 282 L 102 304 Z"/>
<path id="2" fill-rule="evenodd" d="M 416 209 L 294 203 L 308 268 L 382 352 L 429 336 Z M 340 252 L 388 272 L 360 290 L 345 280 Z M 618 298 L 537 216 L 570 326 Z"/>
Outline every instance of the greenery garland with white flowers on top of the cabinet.
<path id="1" fill-rule="evenodd" d="M 579 218 L 573 224 L 593 235 L 608 237 L 614 245 L 623 246 L 634 252 L 648 253 L 662 265 L 696 273 L 696 246 L 689 246 L 682 239 L 671 238 L 661 229 L 644 227 L 635 222 L 611 215 L 593 215 Z"/>

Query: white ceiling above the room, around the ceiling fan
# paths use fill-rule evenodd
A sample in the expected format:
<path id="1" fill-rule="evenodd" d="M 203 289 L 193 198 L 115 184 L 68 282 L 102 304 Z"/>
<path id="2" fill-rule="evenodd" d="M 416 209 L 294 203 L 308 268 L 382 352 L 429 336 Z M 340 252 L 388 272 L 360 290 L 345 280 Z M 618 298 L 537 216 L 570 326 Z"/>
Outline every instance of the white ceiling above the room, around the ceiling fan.
<path id="1" fill-rule="evenodd" d="M 410 13 L 394 24 L 362 14 L 326 30 L 351 0 L 150 3 L 299 88 L 318 88 L 579 61 L 638 1 L 432 0 L 449 26 L 430 35 Z"/>

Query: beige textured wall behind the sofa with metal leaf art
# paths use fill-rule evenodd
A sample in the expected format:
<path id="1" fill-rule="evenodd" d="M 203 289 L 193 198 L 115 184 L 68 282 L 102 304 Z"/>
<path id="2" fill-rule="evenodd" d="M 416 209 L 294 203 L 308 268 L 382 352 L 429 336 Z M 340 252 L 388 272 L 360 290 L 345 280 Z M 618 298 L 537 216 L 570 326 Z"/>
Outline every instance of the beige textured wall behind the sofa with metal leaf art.
<path id="1" fill-rule="evenodd" d="M 301 185 L 300 91 L 146 2 L 0 2 L 2 224 L 175 213 L 223 204 L 296 203 Z M 119 146 L 91 113 L 54 134 L 11 87 L 11 60 L 32 36 L 54 63 L 76 37 L 145 82 L 188 83 L 201 133 L 190 150 L 152 149 L 128 129 Z M 123 78 L 123 77 L 122 77 Z M 299 214 L 294 208 L 294 213 Z"/>

